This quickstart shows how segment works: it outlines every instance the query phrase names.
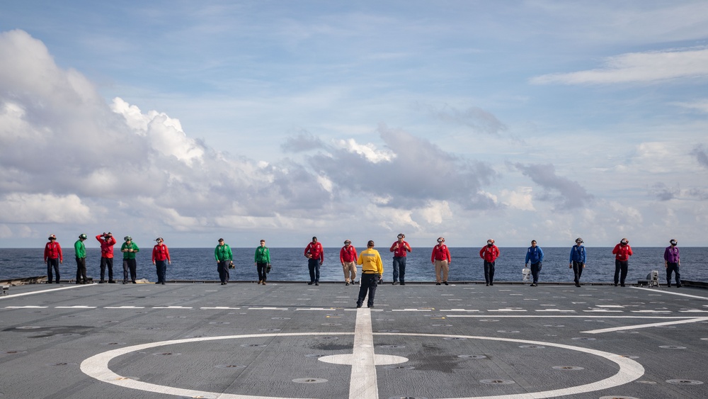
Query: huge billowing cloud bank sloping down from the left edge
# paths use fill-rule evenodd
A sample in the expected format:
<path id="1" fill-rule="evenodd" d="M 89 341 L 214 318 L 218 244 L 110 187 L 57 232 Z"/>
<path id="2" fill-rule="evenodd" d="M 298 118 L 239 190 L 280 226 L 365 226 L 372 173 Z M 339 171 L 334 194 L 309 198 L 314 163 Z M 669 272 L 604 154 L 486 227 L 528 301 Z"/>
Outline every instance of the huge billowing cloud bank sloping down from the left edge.
<path id="1" fill-rule="evenodd" d="M 0 206 L 10 210 L 0 234 L 25 234 L 33 223 L 299 231 L 326 220 L 338 226 L 353 206 L 376 210 L 367 215 L 382 228 L 421 229 L 453 209 L 498 206 L 482 190 L 496 176 L 491 167 L 403 130 L 379 126 L 378 145 L 323 142 L 303 130 L 282 143 L 302 159 L 263 162 L 189 137 L 166 113 L 107 103 L 21 30 L 0 34 L 0 58 Z"/>

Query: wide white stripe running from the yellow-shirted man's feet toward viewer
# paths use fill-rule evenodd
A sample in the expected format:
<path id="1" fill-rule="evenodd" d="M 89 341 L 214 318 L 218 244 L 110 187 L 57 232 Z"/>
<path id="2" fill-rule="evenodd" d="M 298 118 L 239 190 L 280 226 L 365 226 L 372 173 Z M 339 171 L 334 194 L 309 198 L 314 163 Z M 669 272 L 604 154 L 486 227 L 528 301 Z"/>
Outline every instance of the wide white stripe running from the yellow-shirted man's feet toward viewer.
<path id="1" fill-rule="evenodd" d="M 356 313 L 356 326 L 354 327 L 354 353 L 349 380 L 349 399 L 379 398 L 374 356 L 371 312 L 369 308 L 360 308 Z"/>

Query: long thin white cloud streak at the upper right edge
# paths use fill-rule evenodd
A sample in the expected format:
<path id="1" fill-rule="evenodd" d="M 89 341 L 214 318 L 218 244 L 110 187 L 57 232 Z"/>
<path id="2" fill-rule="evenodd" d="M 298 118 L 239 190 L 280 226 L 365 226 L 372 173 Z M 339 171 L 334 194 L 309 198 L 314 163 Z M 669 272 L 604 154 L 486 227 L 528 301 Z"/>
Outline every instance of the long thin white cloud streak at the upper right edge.
<path id="1" fill-rule="evenodd" d="M 708 48 L 631 52 L 609 57 L 588 71 L 544 74 L 532 84 L 615 84 L 708 77 Z"/>

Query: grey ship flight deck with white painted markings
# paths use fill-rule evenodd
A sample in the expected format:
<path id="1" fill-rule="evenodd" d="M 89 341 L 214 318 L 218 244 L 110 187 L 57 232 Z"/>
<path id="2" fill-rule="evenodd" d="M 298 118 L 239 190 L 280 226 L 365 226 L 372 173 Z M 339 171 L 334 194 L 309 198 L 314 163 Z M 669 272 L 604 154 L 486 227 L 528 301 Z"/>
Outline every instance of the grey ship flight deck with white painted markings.
<path id="1" fill-rule="evenodd" d="M 705 290 L 384 285 L 373 310 L 355 308 L 357 293 L 12 287 L 0 296 L 0 397 L 708 397 Z"/>

